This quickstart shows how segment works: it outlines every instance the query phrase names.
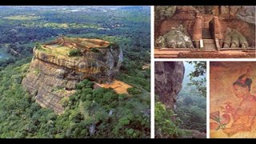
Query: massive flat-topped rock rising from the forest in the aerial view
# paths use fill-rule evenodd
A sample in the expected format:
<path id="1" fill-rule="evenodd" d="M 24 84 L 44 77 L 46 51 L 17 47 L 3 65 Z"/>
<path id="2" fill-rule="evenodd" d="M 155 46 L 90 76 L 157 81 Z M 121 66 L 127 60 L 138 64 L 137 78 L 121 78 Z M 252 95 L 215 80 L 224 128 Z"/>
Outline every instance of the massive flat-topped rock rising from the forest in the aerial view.
<path id="1" fill-rule="evenodd" d="M 110 42 L 58 38 L 34 48 L 34 58 L 22 85 L 41 106 L 61 114 L 61 99 L 74 94 L 78 82 L 85 78 L 112 82 L 121 63 L 122 50 Z"/>

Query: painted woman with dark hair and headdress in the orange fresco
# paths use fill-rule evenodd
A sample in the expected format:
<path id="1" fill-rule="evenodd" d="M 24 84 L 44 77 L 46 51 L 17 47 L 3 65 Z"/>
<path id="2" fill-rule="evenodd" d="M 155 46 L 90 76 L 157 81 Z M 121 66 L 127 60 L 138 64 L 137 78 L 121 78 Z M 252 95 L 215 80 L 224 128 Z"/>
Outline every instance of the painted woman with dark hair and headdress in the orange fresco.
<path id="1" fill-rule="evenodd" d="M 250 94 L 250 86 L 252 79 L 248 78 L 250 70 L 247 74 L 242 74 L 236 82 L 233 83 L 234 95 L 242 98 L 242 102 L 237 107 L 230 106 L 227 103 L 224 109 L 226 114 L 230 114 L 233 123 L 230 128 L 225 128 L 223 132 L 228 136 L 240 132 L 251 131 L 256 116 L 256 97 Z"/>

